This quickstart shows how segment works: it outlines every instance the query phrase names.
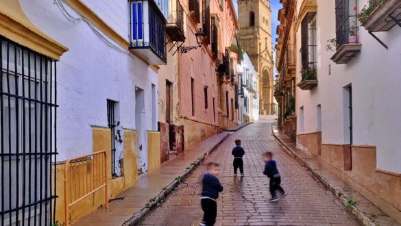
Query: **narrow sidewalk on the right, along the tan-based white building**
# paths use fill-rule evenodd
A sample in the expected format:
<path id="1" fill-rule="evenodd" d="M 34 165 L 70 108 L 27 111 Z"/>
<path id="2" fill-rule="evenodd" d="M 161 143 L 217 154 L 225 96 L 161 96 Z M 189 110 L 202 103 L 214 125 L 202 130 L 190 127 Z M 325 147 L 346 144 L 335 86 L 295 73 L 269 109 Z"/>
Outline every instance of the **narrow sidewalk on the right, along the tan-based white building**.
<path id="1" fill-rule="evenodd" d="M 345 208 L 347 208 L 350 213 L 354 214 L 363 225 L 400 225 L 352 188 L 350 184 L 340 177 L 337 177 L 335 168 L 324 164 L 317 156 L 297 149 L 295 142 L 278 129 L 276 123 L 272 125 L 271 129 L 274 137 L 284 146 L 284 150 L 308 168 L 321 184 L 332 192 L 332 194 L 345 205 Z M 348 205 L 348 199 L 356 201 L 356 205 Z"/>

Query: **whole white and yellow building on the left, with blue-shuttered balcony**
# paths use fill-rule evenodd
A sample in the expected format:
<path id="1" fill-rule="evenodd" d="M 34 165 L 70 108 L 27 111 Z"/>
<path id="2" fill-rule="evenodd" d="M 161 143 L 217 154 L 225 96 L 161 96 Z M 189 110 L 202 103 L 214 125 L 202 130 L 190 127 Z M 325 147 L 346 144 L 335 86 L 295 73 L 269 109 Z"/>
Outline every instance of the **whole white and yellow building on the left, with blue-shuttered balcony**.
<path id="1" fill-rule="evenodd" d="M 26 218 L 23 219 L 22 212 L 25 212 L 25 208 L 18 208 L 20 204 L 16 206 L 12 204 L 14 210 L 4 215 L 5 225 L 10 223 L 14 225 L 18 221 L 35 222 L 40 225 L 45 225 L 46 221 L 46 225 L 50 225 L 48 221 L 53 221 L 54 218 L 50 215 L 53 212 L 49 211 L 51 208 L 49 206 L 52 205 L 53 199 L 56 199 L 56 194 L 58 195 L 57 206 L 54 206 L 56 219 L 60 223 L 68 221 L 64 218 L 64 186 L 57 184 L 56 193 L 52 189 L 56 187 L 53 184 L 56 181 L 52 181 L 54 174 L 57 174 L 57 183 L 64 182 L 62 178 L 66 160 L 97 151 L 106 151 L 107 162 L 95 162 L 94 157 L 81 160 L 80 162 L 88 162 L 88 166 L 75 177 L 81 174 L 82 177 L 88 178 L 90 172 L 94 171 L 90 167 L 105 166 L 104 180 L 109 181 L 109 197 L 130 186 L 138 174 L 147 171 L 148 137 L 149 133 L 157 130 L 158 121 L 157 65 L 167 62 L 165 52 L 167 18 L 164 15 L 168 11 L 167 1 L 156 1 L 156 3 L 141 1 L 141 3 L 143 4 L 136 4 L 136 1 L 92 0 L 21 0 L 0 3 L 0 14 L 10 18 L 15 16 L 10 21 L 16 21 L 5 26 L 5 29 L 0 29 L 2 56 L 0 66 L 2 71 L 6 70 L 2 76 L 8 80 L 11 76 L 16 77 L 14 74 L 18 72 L 18 76 L 26 80 L 16 86 L 17 91 L 22 89 L 18 91 L 21 92 L 21 98 L 19 97 L 21 104 L 18 102 L 11 108 L 10 105 L 2 105 L 4 109 L 1 110 L 1 118 L 6 118 L 5 112 L 14 114 L 16 116 L 14 118 L 26 116 L 27 112 L 29 114 L 32 112 L 35 116 L 38 114 L 38 118 L 32 120 L 20 118 L 21 121 L 16 121 L 14 124 L 12 122 L 2 124 L 2 127 L 12 129 L 10 133 L 2 134 L 1 139 L 4 135 L 10 137 L 10 140 L 16 140 L 10 144 L 11 148 L 8 150 L 10 153 L 14 151 L 14 147 L 17 153 L 40 152 L 38 160 L 24 158 L 23 164 L 27 161 L 29 166 L 32 164 L 36 167 L 40 162 L 40 167 L 43 166 L 40 168 L 40 172 L 43 170 L 43 173 L 31 171 L 28 177 L 25 175 L 25 165 L 15 163 L 18 161 L 3 161 L 3 155 L 1 156 L 1 166 L 7 166 L 2 173 L 8 175 L 8 171 L 16 171 L 16 175 L 13 174 L 12 178 L 5 178 L 5 181 L 10 181 L 11 188 L 0 189 L 2 194 L 5 193 L 9 197 L 3 206 L 3 208 L 6 206 L 5 210 L 8 210 L 8 203 L 17 203 L 16 201 L 22 200 L 21 195 L 25 195 L 21 190 L 22 182 L 18 178 L 24 183 L 29 182 L 29 185 L 25 186 L 29 186 L 32 192 L 40 193 L 40 200 L 35 200 L 34 205 L 38 208 L 40 216 L 32 214 L 28 219 L 25 213 Z M 138 14 L 139 12 L 146 13 Z M 3 26 L 3 21 L 1 23 Z M 14 29 L 12 26 L 17 28 Z M 26 38 L 25 34 L 32 36 Z M 19 59 L 19 66 L 14 64 L 15 60 L 11 56 Z M 43 63 L 37 63 L 39 60 L 43 60 Z M 8 66 L 11 64 L 15 65 L 14 71 Z M 50 64 L 51 66 L 48 66 Z M 45 79 L 42 79 L 42 75 Z M 15 81 L 17 80 L 16 78 Z M 37 84 L 38 90 L 32 92 L 38 92 L 40 95 L 36 97 L 36 94 L 32 94 L 33 97 L 24 99 L 29 81 L 32 81 L 32 86 Z M 20 95 L 13 90 L 7 92 L 7 95 L 1 95 L 1 99 L 10 99 L 9 95 Z M 53 99 L 49 101 L 52 103 L 46 102 L 48 98 Z M 12 101 L 14 100 L 10 102 Z M 28 107 L 23 108 L 23 105 L 28 106 L 28 102 L 29 105 L 36 103 L 38 106 L 30 110 Z M 51 113 L 50 109 L 56 110 L 57 114 L 55 111 Z M 36 131 L 25 133 L 31 125 Z M 21 137 L 38 140 L 40 145 L 37 147 L 23 145 Z M 7 150 L 3 151 L 7 153 Z M 53 160 L 51 161 L 48 156 Z M 57 164 L 54 161 L 55 156 Z M 89 165 L 90 161 L 93 161 L 92 165 Z M 17 171 L 16 168 L 19 167 L 23 168 Z M 79 168 L 80 163 L 74 167 L 72 170 Z M 32 178 L 36 177 L 40 187 L 34 186 L 36 182 L 34 183 Z M 76 183 L 75 181 L 75 186 Z M 72 185 L 71 189 L 74 189 Z M 102 191 L 104 188 L 97 192 Z M 46 192 L 46 196 L 43 194 L 42 197 L 42 192 Z M 90 206 L 81 207 L 82 211 L 69 216 L 71 221 L 102 204 L 101 201 L 104 200 L 98 203 L 99 200 L 95 200 L 94 195 L 88 197 L 92 199 Z M 27 202 L 21 203 L 21 206 L 29 205 L 29 201 Z"/>

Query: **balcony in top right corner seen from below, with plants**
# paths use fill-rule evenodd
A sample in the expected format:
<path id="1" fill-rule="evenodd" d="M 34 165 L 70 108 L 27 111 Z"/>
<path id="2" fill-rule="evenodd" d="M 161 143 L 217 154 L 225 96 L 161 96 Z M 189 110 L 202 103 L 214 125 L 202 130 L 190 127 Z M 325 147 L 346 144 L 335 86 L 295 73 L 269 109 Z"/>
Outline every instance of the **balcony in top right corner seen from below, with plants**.
<path id="1" fill-rule="evenodd" d="M 369 7 L 361 10 L 359 21 L 369 32 L 387 32 L 397 24 L 401 27 L 401 1 L 370 1 Z"/>

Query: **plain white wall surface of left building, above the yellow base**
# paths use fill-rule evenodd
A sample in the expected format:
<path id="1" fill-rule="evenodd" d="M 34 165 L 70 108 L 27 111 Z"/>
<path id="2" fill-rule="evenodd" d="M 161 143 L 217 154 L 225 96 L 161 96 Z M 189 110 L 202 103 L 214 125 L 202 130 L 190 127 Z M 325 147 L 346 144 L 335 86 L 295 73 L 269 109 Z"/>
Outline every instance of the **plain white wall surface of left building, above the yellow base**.
<path id="1" fill-rule="evenodd" d="M 93 151 L 90 126 L 107 127 L 106 99 L 119 101 L 123 128 L 138 129 L 135 125 L 136 86 L 145 92 L 143 129 L 152 128 L 151 111 L 157 107 L 155 101 L 153 108 L 150 104 L 151 84 L 157 88 L 156 72 L 140 60 L 106 45 L 84 22 L 67 21 L 53 1 L 21 0 L 21 6 L 36 27 L 69 48 L 57 64 L 58 161 Z M 126 18 L 117 22 L 122 27 L 127 25 L 127 10 L 116 14 L 108 7 L 100 1 L 97 3 L 97 8 L 110 13 L 112 18 Z M 66 9 L 79 16 L 67 5 Z M 139 156 L 147 168 L 147 136 L 144 139 Z"/>

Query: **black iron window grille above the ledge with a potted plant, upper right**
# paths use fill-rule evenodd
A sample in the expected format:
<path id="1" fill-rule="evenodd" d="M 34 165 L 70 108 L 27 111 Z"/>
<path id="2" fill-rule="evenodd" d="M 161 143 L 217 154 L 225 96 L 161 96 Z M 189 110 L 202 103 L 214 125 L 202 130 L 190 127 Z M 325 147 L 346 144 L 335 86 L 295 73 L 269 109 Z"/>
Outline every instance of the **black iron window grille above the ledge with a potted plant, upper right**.
<path id="1" fill-rule="evenodd" d="M 336 0 L 337 49 L 344 44 L 359 42 L 356 6 L 356 0 Z"/>

